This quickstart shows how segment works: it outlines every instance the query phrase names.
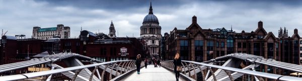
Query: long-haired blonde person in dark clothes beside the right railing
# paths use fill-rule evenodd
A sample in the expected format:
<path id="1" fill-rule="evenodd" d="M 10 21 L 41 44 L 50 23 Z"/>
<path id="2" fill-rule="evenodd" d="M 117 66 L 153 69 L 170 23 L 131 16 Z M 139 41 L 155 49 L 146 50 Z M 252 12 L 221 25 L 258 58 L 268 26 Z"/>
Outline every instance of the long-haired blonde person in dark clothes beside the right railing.
<path id="1" fill-rule="evenodd" d="M 174 63 L 175 77 L 176 77 L 176 80 L 178 81 L 179 80 L 178 78 L 179 78 L 179 75 L 180 75 L 180 71 L 177 71 L 177 66 L 181 66 L 181 58 L 180 58 L 180 54 L 179 53 L 175 54 L 173 63 Z"/>

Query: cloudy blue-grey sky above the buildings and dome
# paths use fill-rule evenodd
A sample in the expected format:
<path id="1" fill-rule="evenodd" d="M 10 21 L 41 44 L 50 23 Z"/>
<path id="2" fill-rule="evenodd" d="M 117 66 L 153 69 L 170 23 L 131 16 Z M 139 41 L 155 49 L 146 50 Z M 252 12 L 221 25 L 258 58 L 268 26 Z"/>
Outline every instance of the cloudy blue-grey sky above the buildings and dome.
<path id="1" fill-rule="evenodd" d="M 0 28 L 7 35 L 32 36 L 34 26 L 69 26 L 71 37 L 83 30 L 108 34 L 111 20 L 119 37 L 139 37 L 139 27 L 148 14 L 149 0 L 0 0 Z M 288 29 L 289 36 L 295 28 L 302 35 L 301 1 L 160 1 L 152 0 L 153 12 L 162 26 L 162 34 L 174 27 L 185 29 L 191 18 L 197 16 L 202 29 L 226 28 L 236 32 L 255 31 L 263 21 L 264 29 L 278 35 L 280 27 Z"/>

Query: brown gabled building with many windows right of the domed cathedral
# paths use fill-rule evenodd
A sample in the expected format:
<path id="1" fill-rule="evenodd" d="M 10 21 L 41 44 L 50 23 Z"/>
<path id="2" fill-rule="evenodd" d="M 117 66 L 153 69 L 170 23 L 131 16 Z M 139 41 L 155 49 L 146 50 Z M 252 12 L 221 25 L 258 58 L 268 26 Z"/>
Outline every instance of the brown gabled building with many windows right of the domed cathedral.
<path id="1" fill-rule="evenodd" d="M 197 24 L 197 17 L 193 16 L 189 27 L 184 30 L 174 28 L 170 34 L 165 34 L 165 40 L 167 60 L 173 59 L 175 53 L 180 53 L 182 60 L 200 62 L 231 53 L 248 53 L 293 64 L 300 61 L 297 29 L 289 37 L 286 28 L 280 28 L 278 37 L 275 37 L 272 32 L 266 32 L 262 21 L 258 22 L 255 31 L 237 33 L 225 28 L 202 29 Z M 289 73 L 286 70 L 273 70 L 269 66 L 261 66 L 257 70 Z"/>

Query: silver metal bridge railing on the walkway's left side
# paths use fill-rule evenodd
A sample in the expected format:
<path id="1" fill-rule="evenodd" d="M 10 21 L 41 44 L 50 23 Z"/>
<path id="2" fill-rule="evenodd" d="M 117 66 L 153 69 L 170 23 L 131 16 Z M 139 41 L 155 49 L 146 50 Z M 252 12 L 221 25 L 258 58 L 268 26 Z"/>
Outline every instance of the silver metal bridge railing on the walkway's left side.
<path id="1" fill-rule="evenodd" d="M 135 60 L 108 61 L 67 68 L 56 66 L 56 64 L 51 65 L 51 70 L 0 76 L 0 79 L 110 80 L 123 73 L 136 70 Z"/>

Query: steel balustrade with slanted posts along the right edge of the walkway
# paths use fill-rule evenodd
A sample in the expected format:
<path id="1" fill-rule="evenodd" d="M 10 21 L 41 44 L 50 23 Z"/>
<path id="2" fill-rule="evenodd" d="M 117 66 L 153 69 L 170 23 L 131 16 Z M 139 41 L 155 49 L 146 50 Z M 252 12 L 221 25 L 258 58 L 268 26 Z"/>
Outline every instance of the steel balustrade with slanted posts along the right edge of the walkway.
<path id="1" fill-rule="evenodd" d="M 173 63 L 173 60 L 162 61 L 162 62 L 163 62 L 162 63 L 163 67 L 174 70 L 174 68 L 173 68 L 174 64 L 171 64 L 171 63 Z M 209 72 L 211 73 L 209 76 L 212 76 L 214 81 L 218 80 L 218 77 L 225 77 L 225 76 L 219 76 L 218 75 L 218 77 L 217 77 L 217 75 L 215 75 L 214 71 L 212 70 L 213 68 L 222 69 L 225 72 L 225 75 L 228 76 L 229 80 L 231 80 L 231 81 L 234 81 L 236 79 L 236 78 L 233 78 L 234 74 L 236 74 L 236 73 L 250 74 L 251 77 L 253 77 L 253 78 L 254 78 L 254 76 L 257 77 L 257 78 L 261 78 L 260 80 L 263 80 L 262 77 L 275 79 L 275 80 L 288 80 L 288 81 L 295 81 L 295 80 L 301 80 L 302 79 L 302 78 L 299 78 L 299 77 L 271 74 L 271 73 L 266 73 L 266 72 L 258 72 L 258 71 L 239 69 L 239 68 L 233 68 L 233 67 L 225 67 L 225 66 L 212 65 L 212 64 L 207 64 L 207 63 L 202 63 L 202 62 L 195 62 L 195 61 L 182 60 L 182 65 L 183 65 L 184 69 L 188 69 L 188 70 L 183 70 L 181 72 L 181 73 L 184 73 L 185 75 L 186 75 L 186 71 L 190 72 L 190 69 L 195 71 L 196 67 L 199 68 L 199 70 L 201 72 L 200 77 L 202 77 L 202 80 L 207 80 L 208 79 L 208 78 L 206 78 L 206 76 L 204 76 L 205 73 L 204 73 L 204 70 L 202 69 L 202 66 L 206 66 L 208 68 Z M 234 73 L 232 73 L 232 72 L 234 72 Z M 188 77 L 191 77 L 195 80 L 197 80 L 196 76 L 197 76 L 196 72 L 194 72 L 194 75 L 191 75 L 190 73 L 188 74 Z M 219 80 L 221 80 L 221 79 L 219 79 Z M 257 80 L 257 79 L 255 78 L 255 80 Z"/>

